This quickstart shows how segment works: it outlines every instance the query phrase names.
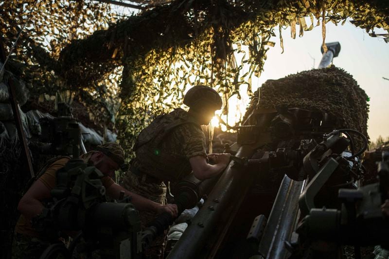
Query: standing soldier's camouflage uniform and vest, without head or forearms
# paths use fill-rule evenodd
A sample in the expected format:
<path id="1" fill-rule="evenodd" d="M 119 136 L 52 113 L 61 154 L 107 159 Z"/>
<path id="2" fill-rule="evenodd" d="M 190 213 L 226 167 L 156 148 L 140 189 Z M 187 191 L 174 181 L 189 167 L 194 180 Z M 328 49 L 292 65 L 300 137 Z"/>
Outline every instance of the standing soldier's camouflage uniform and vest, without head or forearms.
<path id="1" fill-rule="evenodd" d="M 205 136 L 201 126 L 183 109 L 157 117 L 146 127 L 134 145 L 136 158 L 124 176 L 124 188 L 161 205 L 166 204 L 166 186 L 162 181 L 177 182 L 192 171 L 189 158 L 206 157 Z M 155 213 L 141 212 L 143 225 Z M 163 258 L 165 236 L 145 251 L 147 258 Z"/>

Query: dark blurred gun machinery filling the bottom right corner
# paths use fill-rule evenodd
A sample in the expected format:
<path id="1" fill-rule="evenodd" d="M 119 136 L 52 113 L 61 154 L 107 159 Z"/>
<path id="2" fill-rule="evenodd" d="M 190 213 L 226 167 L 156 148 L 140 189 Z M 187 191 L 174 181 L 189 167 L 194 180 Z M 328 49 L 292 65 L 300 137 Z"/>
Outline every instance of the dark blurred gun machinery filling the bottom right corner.
<path id="1" fill-rule="evenodd" d="M 388 199 L 389 153 L 382 153 L 377 163 L 379 182 L 357 189 L 340 189 L 339 207 L 315 208 L 305 206 L 309 212 L 302 218 L 290 242 L 293 247 L 291 258 L 331 257 L 341 245 L 353 245 L 355 258 L 361 258 L 360 247 L 381 245 L 389 248 L 387 234 L 388 217 L 382 212 L 382 204 Z M 312 184 L 321 185 L 320 177 L 331 174 L 325 167 L 320 170 Z M 304 193 L 303 193 L 304 194 Z M 303 199 L 303 195 L 301 195 Z M 321 245 L 318 245 L 321 244 Z"/>

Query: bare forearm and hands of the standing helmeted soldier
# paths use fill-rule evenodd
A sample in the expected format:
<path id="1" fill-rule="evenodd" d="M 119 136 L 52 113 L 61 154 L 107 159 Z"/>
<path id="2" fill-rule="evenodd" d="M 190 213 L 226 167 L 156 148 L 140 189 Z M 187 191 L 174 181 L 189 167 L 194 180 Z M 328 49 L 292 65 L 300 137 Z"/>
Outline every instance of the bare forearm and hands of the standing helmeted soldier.
<path id="1" fill-rule="evenodd" d="M 214 165 L 208 164 L 207 159 L 202 155 L 196 155 L 189 159 L 193 174 L 199 180 L 209 179 L 223 172 L 230 163 L 230 154 L 218 154 L 217 158 L 214 158 L 213 161 L 215 162 Z"/>

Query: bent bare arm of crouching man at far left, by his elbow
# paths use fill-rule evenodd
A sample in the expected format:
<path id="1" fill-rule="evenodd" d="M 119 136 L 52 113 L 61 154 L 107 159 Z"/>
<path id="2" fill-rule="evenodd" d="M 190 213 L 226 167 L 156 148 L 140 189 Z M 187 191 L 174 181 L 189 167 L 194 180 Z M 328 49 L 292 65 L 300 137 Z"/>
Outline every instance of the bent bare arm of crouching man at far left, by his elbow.
<path id="1" fill-rule="evenodd" d="M 39 179 L 28 189 L 18 204 L 18 210 L 27 219 L 31 219 L 42 212 L 42 200 L 50 198 L 50 190 Z"/>

